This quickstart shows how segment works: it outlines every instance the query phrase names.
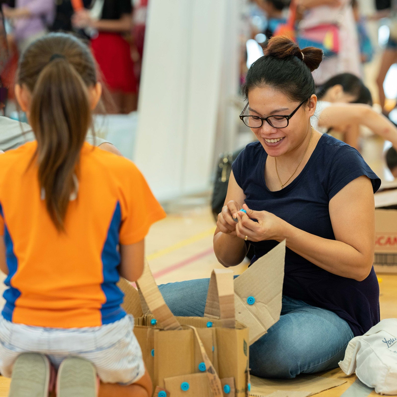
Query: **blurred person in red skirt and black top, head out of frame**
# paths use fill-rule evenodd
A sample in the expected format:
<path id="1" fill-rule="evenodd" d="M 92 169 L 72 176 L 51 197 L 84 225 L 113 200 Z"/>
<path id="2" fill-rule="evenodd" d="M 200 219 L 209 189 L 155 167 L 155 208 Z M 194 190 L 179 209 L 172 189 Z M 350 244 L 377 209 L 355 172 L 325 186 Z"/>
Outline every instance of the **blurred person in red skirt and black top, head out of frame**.
<path id="1" fill-rule="evenodd" d="M 137 80 L 130 44 L 124 38 L 131 32 L 131 0 L 95 0 L 91 10 L 76 12 L 72 21 L 91 35 L 92 51 L 112 94 L 115 113 L 136 110 Z"/>

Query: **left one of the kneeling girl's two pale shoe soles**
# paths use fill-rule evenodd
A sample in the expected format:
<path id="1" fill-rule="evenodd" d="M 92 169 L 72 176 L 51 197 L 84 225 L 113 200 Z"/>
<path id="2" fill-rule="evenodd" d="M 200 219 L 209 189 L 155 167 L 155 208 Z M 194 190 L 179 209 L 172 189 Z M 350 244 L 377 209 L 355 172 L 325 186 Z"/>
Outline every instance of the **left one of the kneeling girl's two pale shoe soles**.
<path id="1" fill-rule="evenodd" d="M 37 353 L 23 353 L 12 368 L 8 397 L 47 397 L 50 362 Z"/>

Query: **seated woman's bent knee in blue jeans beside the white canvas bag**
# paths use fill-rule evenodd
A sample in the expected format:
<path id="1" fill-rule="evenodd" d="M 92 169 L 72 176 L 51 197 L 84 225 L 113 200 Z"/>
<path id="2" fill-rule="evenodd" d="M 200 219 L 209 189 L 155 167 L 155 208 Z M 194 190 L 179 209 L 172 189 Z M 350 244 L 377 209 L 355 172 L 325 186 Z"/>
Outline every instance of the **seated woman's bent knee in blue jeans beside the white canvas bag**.
<path id="1" fill-rule="evenodd" d="M 251 346 L 251 372 L 289 379 L 334 368 L 352 337 L 349 325 L 328 310 L 307 307 L 291 312 Z"/>

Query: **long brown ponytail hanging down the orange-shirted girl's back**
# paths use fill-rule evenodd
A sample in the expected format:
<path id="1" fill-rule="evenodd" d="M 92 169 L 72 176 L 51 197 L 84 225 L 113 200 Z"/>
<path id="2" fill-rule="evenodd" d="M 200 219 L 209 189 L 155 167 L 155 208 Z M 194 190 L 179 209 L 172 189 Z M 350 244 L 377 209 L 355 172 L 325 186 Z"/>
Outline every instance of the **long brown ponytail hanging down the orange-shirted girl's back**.
<path id="1" fill-rule="evenodd" d="M 70 195 L 77 189 L 73 174 L 91 124 L 87 87 L 66 58 L 51 60 L 41 71 L 32 93 L 30 122 L 37 139 L 40 187 L 48 214 L 62 230 Z"/>

